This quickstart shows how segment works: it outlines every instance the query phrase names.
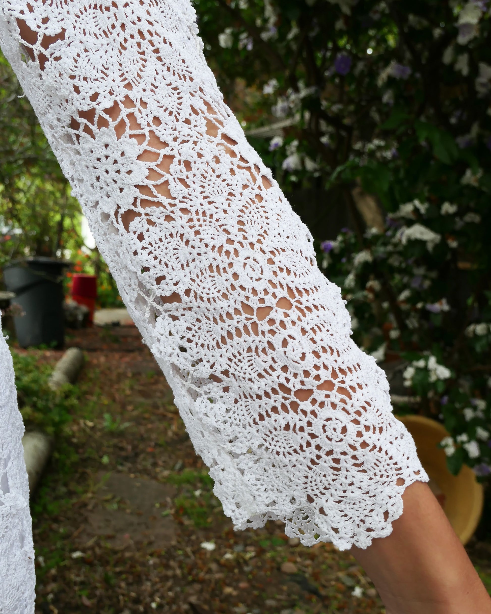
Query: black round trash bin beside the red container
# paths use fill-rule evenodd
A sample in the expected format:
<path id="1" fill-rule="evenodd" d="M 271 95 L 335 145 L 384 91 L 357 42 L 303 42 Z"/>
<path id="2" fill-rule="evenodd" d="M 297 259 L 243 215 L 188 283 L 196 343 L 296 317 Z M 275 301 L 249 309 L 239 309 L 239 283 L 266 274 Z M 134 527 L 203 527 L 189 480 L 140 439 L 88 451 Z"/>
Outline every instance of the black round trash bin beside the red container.
<path id="1" fill-rule="evenodd" d="M 63 271 L 71 263 L 36 256 L 12 260 L 4 266 L 7 290 L 22 314 L 14 316 L 17 341 L 22 348 L 45 344 L 62 348 L 64 343 Z"/>

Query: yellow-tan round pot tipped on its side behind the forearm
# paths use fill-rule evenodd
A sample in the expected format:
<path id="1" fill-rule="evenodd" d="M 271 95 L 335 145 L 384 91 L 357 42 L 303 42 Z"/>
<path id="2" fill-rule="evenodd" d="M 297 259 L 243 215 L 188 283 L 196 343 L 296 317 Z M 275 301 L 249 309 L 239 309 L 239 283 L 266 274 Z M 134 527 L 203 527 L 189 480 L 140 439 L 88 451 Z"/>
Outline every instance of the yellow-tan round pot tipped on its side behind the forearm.
<path id="1" fill-rule="evenodd" d="M 446 456 L 438 443 L 448 437 L 442 424 L 424 416 L 397 416 L 414 438 L 416 449 L 430 478 L 430 488 L 441 503 L 460 541 L 465 545 L 479 524 L 484 502 L 482 484 L 473 470 L 463 465 L 458 475 L 447 469 Z"/>

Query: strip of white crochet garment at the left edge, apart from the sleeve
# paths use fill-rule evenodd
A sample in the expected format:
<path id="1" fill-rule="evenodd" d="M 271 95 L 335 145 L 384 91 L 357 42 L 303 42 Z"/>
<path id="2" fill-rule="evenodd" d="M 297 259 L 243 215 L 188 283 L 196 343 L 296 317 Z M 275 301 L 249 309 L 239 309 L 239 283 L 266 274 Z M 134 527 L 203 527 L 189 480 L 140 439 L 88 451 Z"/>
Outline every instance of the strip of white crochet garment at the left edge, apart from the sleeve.
<path id="1" fill-rule="evenodd" d="M 0 327 L 0 613 L 34 612 L 29 485 L 14 367 Z"/>

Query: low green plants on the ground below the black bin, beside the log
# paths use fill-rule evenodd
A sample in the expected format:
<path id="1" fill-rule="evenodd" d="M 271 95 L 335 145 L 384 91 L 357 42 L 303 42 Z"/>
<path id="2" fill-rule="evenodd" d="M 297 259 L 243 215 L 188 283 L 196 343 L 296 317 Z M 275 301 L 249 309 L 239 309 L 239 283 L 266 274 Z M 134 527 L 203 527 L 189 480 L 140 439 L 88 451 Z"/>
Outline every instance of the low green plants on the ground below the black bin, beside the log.
<path id="1" fill-rule="evenodd" d="M 26 426 L 33 424 L 50 435 L 60 433 L 77 407 L 77 388 L 65 384 L 58 391 L 48 385 L 52 368 L 33 354 L 12 351 L 20 413 Z"/>

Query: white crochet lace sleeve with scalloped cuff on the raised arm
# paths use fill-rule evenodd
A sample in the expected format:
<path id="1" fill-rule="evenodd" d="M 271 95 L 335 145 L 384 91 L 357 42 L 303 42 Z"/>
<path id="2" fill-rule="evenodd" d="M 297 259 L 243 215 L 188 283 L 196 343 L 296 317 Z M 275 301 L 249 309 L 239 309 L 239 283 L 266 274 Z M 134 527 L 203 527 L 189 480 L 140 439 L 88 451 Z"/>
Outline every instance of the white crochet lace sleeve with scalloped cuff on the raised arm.
<path id="1" fill-rule="evenodd" d="M 365 548 L 427 480 L 189 0 L 0 0 L 2 49 L 236 528 Z"/>

